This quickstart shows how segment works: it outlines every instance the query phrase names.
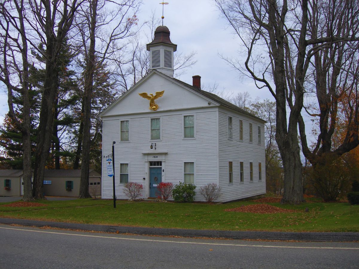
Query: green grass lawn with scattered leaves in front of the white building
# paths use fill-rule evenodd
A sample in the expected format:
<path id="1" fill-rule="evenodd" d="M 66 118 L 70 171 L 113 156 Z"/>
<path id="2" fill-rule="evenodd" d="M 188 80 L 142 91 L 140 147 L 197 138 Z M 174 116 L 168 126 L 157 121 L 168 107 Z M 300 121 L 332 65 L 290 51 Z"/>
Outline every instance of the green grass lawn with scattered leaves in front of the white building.
<path id="1" fill-rule="evenodd" d="M 4 207 L 0 217 L 75 223 L 161 228 L 241 230 L 241 231 L 321 231 L 359 232 L 359 205 L 308 202 L 301 205 L 272 206 L 294 209 L 291 213 L 242 213 L 224 209 L 256 204 L 241 201 L 225 204 L 129 202 L 78 199 L 37 200 L 45 207 Z M 257 203 L 258 204 L 258 203 Z M 308 207 L 309 211 L 305 212 Z"/>

